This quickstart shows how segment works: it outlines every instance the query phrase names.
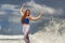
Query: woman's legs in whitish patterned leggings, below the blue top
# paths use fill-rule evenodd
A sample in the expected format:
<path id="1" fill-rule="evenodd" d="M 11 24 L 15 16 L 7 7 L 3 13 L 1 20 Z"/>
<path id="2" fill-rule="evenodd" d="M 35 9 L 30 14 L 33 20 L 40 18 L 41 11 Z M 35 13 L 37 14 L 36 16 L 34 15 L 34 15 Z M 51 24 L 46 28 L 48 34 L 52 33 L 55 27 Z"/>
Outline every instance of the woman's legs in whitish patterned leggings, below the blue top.
<path id="1" fill-rule="evenodd" d="M 29 25 L 24 25 L 23 26 L 23 32 L 24 32 L 24 40 L 26 43 L 29 43 L 29 35 L 28 35 L 29 31 L 30 31 Z"/>

